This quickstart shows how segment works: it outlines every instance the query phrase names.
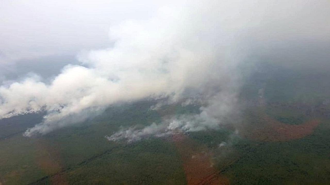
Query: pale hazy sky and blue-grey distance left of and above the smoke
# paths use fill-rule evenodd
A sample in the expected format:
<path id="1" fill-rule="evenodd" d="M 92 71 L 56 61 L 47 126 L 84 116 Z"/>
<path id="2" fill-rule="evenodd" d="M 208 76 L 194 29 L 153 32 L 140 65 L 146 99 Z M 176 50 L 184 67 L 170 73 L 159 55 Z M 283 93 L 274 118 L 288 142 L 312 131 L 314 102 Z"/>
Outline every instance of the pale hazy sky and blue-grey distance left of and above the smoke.
<path id="1" fill-rule="evenodd" d="M 76 64 L 79 52 L 111 47 L 112 25 L 148 19 L 159 7 L 173 2 L 1 0 L 0 84 L 28 72 L 48 77 L 48 70 L 53 76 L 66 64 Z"/>

